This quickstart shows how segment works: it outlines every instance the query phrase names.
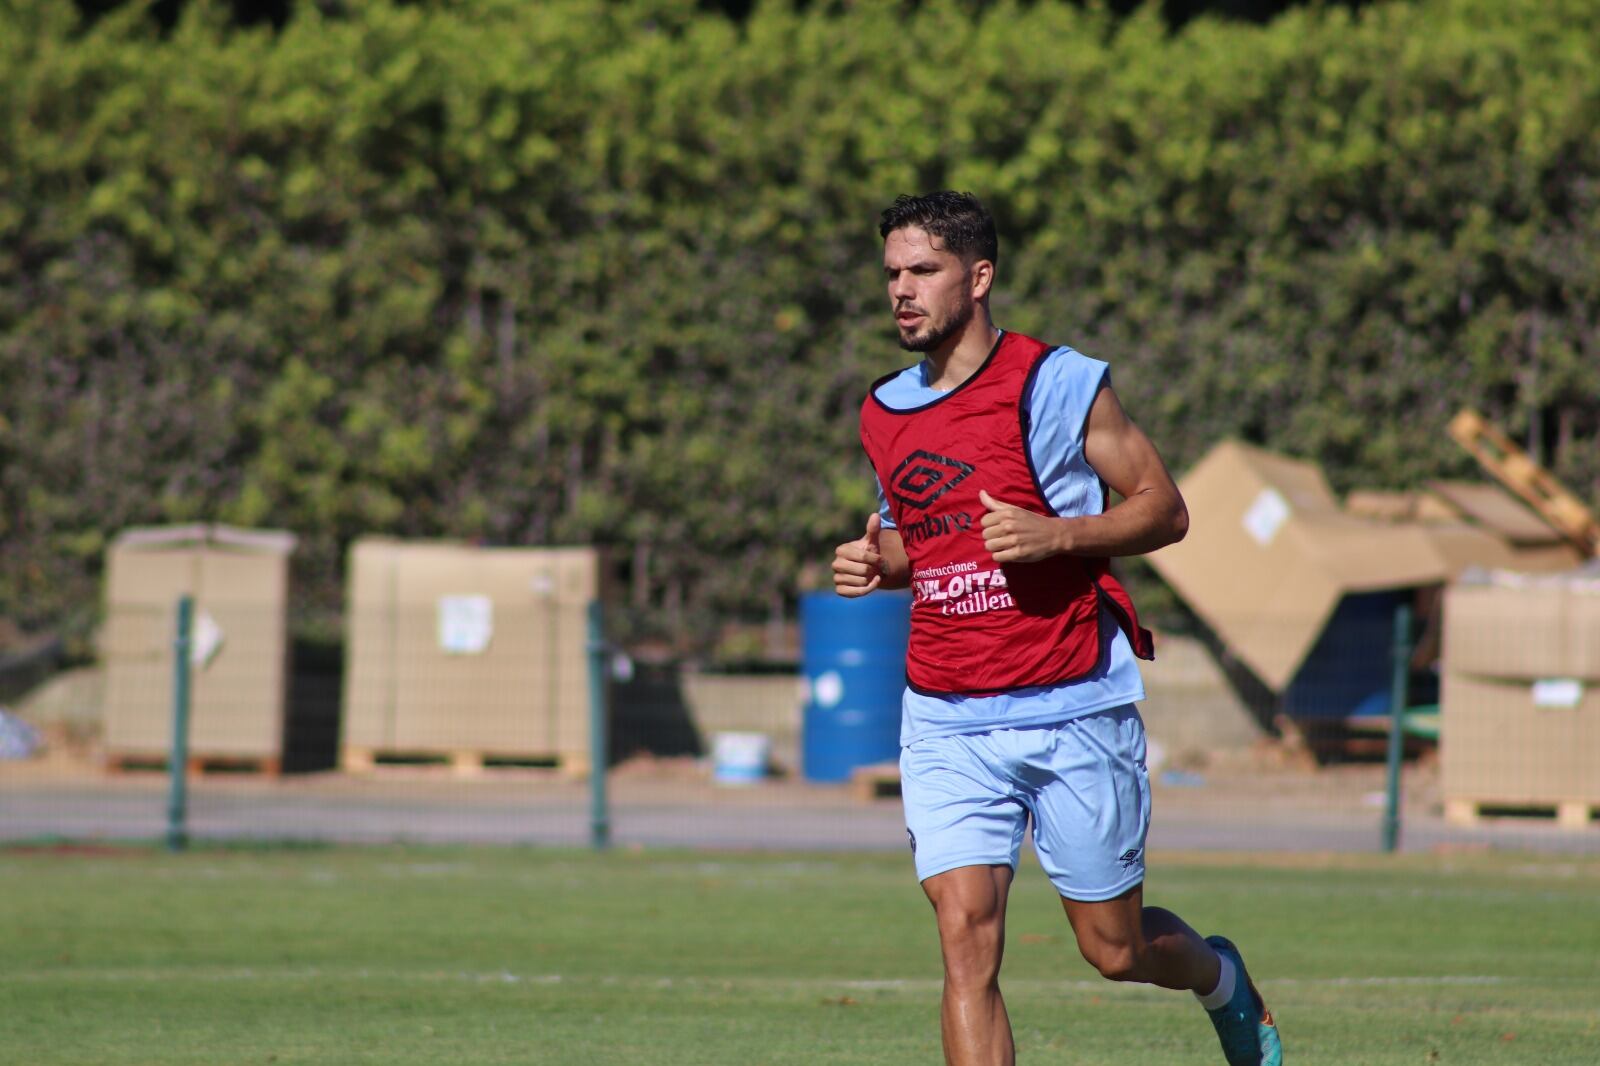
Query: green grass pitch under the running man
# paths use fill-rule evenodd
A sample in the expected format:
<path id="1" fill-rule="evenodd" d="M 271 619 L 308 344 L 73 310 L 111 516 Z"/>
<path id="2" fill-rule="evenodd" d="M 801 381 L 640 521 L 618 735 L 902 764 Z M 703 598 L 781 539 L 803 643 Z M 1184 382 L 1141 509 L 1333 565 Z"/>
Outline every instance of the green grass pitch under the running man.
<path id="1" fill-rule="evenodd" d="M 1160 856 L 1294 1066 L 1600 1061 L 1600 863 Z M 1187 997 L 1085 967 L 1029 864 L 1026 1063 L 1218 1061 Z M 936 1063 L 931 911 L 901 855 L 494 848 L 0 852 L 0 1061 Z"/>

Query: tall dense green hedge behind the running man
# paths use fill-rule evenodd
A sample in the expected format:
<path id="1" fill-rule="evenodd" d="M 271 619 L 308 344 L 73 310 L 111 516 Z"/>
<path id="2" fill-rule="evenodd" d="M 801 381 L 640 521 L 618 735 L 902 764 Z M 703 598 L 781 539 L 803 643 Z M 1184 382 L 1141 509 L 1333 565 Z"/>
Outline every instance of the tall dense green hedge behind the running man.
<path id="1" fill-rule="evenodd" d="M 1600 496 L 1600 2 L 0 6 L 0 615 L 130 523 L 616 549 L 635 634 L 778 615 L 904 362 L 877 211 L 1002 221 L 1002 325 L 1109 359 L 1182 469 L 1472 464 Z"/>

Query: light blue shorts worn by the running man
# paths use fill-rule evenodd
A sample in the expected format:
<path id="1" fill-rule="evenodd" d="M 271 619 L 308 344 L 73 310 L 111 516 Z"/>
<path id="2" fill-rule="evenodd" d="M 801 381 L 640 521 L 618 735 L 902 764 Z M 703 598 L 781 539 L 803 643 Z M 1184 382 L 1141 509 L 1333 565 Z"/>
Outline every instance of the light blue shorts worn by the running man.
<path id="1" fill-rule="evenodd" d="M 901 795 L 920 880 L 1016 869 L 1030 816 L 1038 861 L 1067 900 L 1110 900 L 1144 880 L 1150 775 L 1133 704 L 914 741 L 901 749 Z"/>

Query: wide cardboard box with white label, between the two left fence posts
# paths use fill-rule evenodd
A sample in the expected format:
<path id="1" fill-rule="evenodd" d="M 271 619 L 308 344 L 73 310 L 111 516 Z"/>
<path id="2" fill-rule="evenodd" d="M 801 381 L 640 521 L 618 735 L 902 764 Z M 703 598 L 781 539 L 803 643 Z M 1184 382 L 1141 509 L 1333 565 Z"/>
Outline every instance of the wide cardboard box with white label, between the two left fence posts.
<path id="1" fill-rule="evenodd" d="M 587 765 L 600 581 L 589 547 L 357 541 L 342 746 Z"/>

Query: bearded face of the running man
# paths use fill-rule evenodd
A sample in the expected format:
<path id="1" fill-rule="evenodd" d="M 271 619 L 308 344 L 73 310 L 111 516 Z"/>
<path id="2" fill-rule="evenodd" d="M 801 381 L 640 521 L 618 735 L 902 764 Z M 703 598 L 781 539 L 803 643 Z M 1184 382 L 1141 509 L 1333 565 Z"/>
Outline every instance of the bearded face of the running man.
<path id="1" fill-rule="evenodd" d="M 907 352 L 934 351 L 973 319 L 978 299 L 968 264 L 920 226 L 883 238 L 883 277 Z"/>

